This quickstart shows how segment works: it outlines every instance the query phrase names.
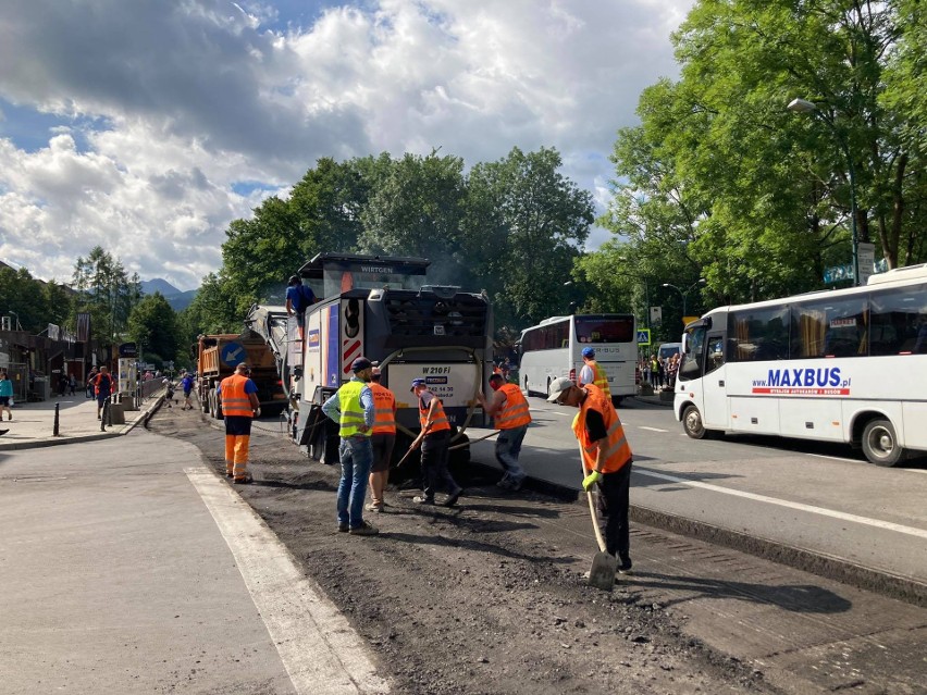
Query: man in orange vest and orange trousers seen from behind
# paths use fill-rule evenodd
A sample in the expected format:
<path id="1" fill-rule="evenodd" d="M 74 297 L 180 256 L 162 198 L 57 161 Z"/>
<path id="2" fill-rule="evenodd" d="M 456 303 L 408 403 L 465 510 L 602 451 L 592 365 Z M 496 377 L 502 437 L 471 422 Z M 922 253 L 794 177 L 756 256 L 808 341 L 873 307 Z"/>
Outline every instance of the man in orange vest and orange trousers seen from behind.
<path id="1" fill-rule="evenodd" d="M 251 420 L 261 414 L 258 386 L 250 375 L 248 365 L 238 362 L 232 376 L 223 378 L 215 390 L 225 419 L 225 477 L 231 477 L 236 485 L 252 481 L 248 472 Z"/>

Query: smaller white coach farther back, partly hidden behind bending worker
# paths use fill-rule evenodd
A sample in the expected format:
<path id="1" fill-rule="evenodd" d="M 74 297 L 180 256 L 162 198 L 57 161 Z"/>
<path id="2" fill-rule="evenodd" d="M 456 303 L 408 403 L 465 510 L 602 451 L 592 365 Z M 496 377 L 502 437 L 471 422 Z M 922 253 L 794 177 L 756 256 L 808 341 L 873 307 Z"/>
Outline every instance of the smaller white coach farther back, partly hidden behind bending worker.
<path id="1" fill-rule="evenodd" d="M 521 332 L 518 374 L 522 389 L 547 395 L 558 376 L 576 381 L 582 369 L 582 349 L 595 349 L 595 361 L 608 375 L 616 404 L 636 393 L 634 369 L 638 333 L 633 314 L 591 313 L 553 317 Z"/>

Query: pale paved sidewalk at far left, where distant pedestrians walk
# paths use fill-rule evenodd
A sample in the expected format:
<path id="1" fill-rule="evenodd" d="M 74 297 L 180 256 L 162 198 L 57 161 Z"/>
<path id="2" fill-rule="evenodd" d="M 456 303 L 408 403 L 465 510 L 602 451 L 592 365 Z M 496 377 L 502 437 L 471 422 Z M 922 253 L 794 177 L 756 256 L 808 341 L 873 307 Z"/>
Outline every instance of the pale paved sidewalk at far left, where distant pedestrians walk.
<path id="1" fill-rule="evenodd" d="M 163 400 L 162 393 L 147 398 L 140 410 L 126 410 L 125 424 L 107 426 L 101 431 L 97 420 L 97 401 L 81 392 L 76 396 L 62 396 L 30 404 L 13 406 L 13 420 L 3 420 L 0 430 L 9 430 L 0 436 L 0 451 L 30 449 L 92 442 L 126 434 L 144 422 Z M 58 406 L 58 436 L 54 435 L 54 408 Z"/>

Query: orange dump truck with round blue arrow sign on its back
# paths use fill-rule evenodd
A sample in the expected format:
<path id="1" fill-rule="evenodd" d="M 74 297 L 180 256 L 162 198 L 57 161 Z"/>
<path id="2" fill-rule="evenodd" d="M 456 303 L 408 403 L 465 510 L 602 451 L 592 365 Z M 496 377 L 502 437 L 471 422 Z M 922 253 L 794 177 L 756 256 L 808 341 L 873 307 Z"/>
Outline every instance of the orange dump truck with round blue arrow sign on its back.
<path id="1" fill-rule="evenodd" d="M 240 335 L 201 335 L 197 342 L 197 392 L 202 411 L 222 418 L 215 389 L 231 376 L 240 362 L 251 368 L 251 381 L 258 387 L 261 414 L 274 415 L 286 408 L 286 395 L 280 382 L 276 360 L 264 339 L 252 331 Z"/>

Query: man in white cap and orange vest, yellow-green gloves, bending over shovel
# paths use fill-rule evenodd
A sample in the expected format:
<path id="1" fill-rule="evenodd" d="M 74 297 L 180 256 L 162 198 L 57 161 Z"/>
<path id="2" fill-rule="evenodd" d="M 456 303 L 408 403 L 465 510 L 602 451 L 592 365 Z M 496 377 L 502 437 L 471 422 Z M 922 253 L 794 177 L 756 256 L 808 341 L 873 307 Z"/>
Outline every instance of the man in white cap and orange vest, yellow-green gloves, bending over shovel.
<path id="1" fill-rule="evenodd" d="M 618 571 L 631 571 L 628 526 L 631 447 L 611 400 L 594 384 L 577 386 L 566 376 L 551 383 L 549 402 L 579 408 L 573 434 L 580 443 L 585 470 L 583 489 L 597 487 L 596 514 L 605 528 L 605 551 L 618 558 Z"/>

